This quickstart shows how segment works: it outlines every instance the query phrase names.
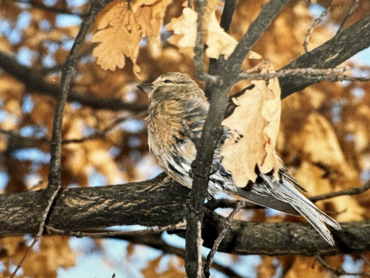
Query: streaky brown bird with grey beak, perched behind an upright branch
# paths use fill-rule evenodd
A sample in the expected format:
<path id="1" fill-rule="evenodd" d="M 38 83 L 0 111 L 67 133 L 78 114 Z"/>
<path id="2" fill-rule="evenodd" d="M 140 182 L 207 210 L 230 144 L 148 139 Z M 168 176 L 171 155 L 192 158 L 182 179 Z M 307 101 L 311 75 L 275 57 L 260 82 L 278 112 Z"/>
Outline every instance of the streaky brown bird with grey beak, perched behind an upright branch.
<path id="1" fill-rule="evenodd" d="M 149 98 L 148 117 L 145 119 L 149 151 L 169 177 L 191 188 L 196 143 L 201 138 L 209 110 L 205 93 L 191 77 L 179 72 L 166 73 L 152 83 L 137 87 Z M 223 157 L 220 154 L 222 144 L 227 138 L 235 136 L 235 133 L 225 126 L 222 128 L 222 135 L 213 155 L 208 194 L 214 196 L 223 192 L 237 195 L 266 208 L 302 215 L 330 245 L 335 245 L 326 225 L 337 230 L 341 229 L 340 225 L 298 190 L 304 189 L 289 173 L 277 153 L 276 157 L 282 165 L 277 171 L 277 179 L 273 173 L 260 172 L 256 165 L 258 177 L 255 182 L 246 181 L 245 188 L 235 184 L 231 172 L 223 167 Z"/>

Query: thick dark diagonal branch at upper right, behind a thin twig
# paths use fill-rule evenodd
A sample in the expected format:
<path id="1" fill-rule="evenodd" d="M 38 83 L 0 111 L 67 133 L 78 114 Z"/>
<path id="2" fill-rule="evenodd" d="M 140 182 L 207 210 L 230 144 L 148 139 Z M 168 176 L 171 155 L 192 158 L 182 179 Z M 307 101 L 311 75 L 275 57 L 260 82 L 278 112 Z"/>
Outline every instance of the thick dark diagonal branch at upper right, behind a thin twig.
<path id="1" fill-rule="evenodd" d="M 287 64 L 280 70 L 303 69 L 306 67 L 314 69 L 330 69 L 348 60 L 354 54 L 370 46 L 370 16 L 352 24 L 340 37 L 333 37 L 326 43 L 307 52 Z M 294 92 L 305 89 L 313 83 L 321 82 L 317 77 L 284 76 L 279 77 L 281 97 L 287 97 Z"/>

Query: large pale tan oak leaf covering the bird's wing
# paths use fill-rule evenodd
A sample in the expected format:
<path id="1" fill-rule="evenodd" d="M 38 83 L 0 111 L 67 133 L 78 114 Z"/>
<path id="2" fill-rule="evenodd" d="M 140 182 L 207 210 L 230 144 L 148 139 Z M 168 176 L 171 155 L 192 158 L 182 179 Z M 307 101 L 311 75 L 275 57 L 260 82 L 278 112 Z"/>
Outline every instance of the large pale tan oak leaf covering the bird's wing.
<path id="1" fill-rule="evenodd" d="M 266 72 L 274 72 L 270 64 L 261 70 Z M 245 187 L 248 180 L 256 181 L 256 165 L 263 173 L 274 169 L 275 174 L 282 166 L 275 151 L 281 113 L 279 82 L 274 78 L 268 84 L 264 80 L 251 83 L 255 85 L 251 90 L 233 98 L 238 107 L 222 122 L 223 126 L 242 135 L 237 142 L 235 138 L 226 139 L 221 149 L 222 165 L 231 172 L 239 187 Z"/>

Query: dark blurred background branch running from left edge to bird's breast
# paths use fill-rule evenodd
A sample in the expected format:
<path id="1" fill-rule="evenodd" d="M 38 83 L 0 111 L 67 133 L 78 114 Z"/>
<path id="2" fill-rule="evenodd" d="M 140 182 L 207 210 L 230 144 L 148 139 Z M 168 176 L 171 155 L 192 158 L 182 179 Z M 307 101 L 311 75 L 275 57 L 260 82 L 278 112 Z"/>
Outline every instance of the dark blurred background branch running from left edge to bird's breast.
<path id="1" fill-rule="evenodd" d="M 23 82 L 30 90 L 55 98 L 58 97 L 61 92 L 61 87 L 59 85 L 47 82 L 42 74 L 21 65 L 16 59 L 1 51 L 0 67 Z M 141 112 L 147 109 L 146 105 L 126 103 L 115 97 L 102 98 L 92 94 L 83 95 L 72 90 L 68 93 L 67 100 L 79 102 L 92 109 L 108 109 L 112 111 L 128 110 L 132 112 Z"/>

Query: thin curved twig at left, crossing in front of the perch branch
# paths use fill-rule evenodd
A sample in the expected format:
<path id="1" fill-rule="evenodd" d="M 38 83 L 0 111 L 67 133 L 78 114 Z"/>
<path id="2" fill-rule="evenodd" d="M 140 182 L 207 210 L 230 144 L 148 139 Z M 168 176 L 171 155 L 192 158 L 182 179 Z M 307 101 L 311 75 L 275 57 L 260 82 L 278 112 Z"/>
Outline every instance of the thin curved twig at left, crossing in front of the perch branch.
<path id="1" fill-rule="evenodd" d="M 70 88 L 70 84 L 71 84 L 71 80 L 73 76 L 73 70 L 74 70 L 78 51 L 80 50 L 85 40 L 85 36 L 91 24 L 93 23 L 96 14 L 101 9 L 102 9 L 102 6 L 98 4 L 98 1 L 92 1 L 89 14 L 86 17 L 86 19 L 81 23 L 80 31 L 78 32 L 77 37 L 74 41 L 74 44 L 70 50 L 70 53 L 67 56 L 67 60 L 64 63 L 64 66 L 62 69 L 62 77 L 61 77 L 62 90 L 61 90 L 60 96 L 58 97 L 57 104 L 55 105 L 53 132 L 52 132 L 51 142 L 50 142 L 50 154 L 51 154 L 50 173 L 49 173 L 49 184 L 46 190 L 48 203 L 42 215 L 41 224 L 40 224 L 37 235 L 35 236 L 31 246 L 27 249 L 23 258 L 17 265 L 16 269 L 10 275 L 10 278 L 13 278 L 16 275 L 17 271 L 21 267 L 21 264 L 24 258 L 26 258 L 28 252 L 31 250 L 31 248 L 33 248 L 33 246 L 36 244 L 38 239 L 41 237 L 43 230 L 44 230 L 45 221 L 50 211 L 51 205 L 53 204 L 54 199 L 58 195 L 58 192 L 61 188 L 61 141 L 62 141 L 62 120 L 63 120 L 64 106 L 65 106 L 65 103 L 67 102 L 67 96 L 68 96 L 68 92 L 69 92 L 69 88 Z"/>

